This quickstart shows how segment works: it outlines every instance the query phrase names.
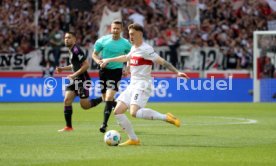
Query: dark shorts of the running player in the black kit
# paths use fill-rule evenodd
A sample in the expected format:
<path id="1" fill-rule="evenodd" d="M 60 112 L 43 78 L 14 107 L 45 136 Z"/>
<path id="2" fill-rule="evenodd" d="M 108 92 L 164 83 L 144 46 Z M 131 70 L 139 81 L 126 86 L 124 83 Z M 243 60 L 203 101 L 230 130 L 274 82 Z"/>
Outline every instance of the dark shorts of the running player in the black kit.
<path id="1" fill-rule="evenodd" d="M 86 80 L 74 80 L 74 83 L 66 86 L 66 91 L 74 91 L 81 99 L 89 97 L 91 82 Z"/>

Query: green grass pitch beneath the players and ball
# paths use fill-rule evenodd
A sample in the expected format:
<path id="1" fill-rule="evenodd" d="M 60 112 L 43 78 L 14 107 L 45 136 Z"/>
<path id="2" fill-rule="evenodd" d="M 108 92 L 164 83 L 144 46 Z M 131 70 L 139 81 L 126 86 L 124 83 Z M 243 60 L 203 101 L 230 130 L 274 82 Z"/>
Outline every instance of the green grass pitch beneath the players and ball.
<path id="1" fill-rule="evenodd" d="M 142 142 L 135 147 L 103 142 L 103 106 L 84 111 L 75 103 L 75 130 L 58 133 L 62 103 L 0 103 L 0 165 L 276 165 L 276 104 L 149 103 L 182 126 L 130 117 Z M 126 140 L 114 116 L 109 129 Z"/>

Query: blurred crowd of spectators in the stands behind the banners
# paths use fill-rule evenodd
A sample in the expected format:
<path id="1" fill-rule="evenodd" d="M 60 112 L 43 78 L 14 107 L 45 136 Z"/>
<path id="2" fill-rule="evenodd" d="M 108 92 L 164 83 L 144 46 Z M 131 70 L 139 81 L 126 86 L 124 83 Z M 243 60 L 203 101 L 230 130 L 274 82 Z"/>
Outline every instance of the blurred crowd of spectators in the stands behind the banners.
<path id="1" fill-rule="evenodd" d="M 84 5 L 78 5 L 79 1 L 40 0 L 35 12 L 34 0 L 0 0 L 0 52 L 35 49 L 35 16 L 39 47 L 59 50 L 68 30 L 76 30 L 78 43 L 89 47 L 98 38 L 102 11 L 107 6 L 112 11 L 122 10 L 125 25 L 142 24 L 145 39 L 154 46 L 170 46 L 172 50 L 182 44 L 219 47 L 226 56 L 226 68 L 248 68 L 252 64 L 253 31 L 267 30 L 268 21 L 276 20 L 276 12 L 263 0 L 243 0 L 238 6 L 234 0 L 199 0 L 200 25 L 177 28 L 180 1 L 82 0 Z M 124 31 L 127 37 L 127 27 Z M 238 61 L 232 64 L 231 58 Z"/>

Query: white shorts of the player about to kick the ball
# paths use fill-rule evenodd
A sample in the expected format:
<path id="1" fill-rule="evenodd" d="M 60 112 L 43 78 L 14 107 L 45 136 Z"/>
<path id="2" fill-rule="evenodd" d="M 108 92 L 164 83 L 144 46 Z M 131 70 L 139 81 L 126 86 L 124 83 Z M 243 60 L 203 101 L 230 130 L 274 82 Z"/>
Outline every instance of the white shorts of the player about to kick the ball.
<path id="1" fill-rule="evenodd" d="M 130 105 L 136 104 L 141 108 L 144 108 L 149 100 L 151 91 L 135 89 L 132 86 L 128 86 L 127 89 L 120 94 L 117 101 L 124 102 L 129 108 Z"/>

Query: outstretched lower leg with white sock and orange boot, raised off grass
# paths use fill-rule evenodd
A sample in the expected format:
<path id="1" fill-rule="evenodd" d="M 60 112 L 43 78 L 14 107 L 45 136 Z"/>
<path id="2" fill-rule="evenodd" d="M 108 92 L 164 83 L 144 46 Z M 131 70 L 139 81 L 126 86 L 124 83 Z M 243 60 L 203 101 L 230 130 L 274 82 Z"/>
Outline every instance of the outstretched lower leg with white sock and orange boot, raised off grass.
<path id="1" fill-rule="evenodd" d="M 181 121 L 176 118 L 173 114 L 161 114 L 155 110 L 150 108 L 140 108 L 135 115 L 137 118 L 148 119 L 148 120 L 163 120 L 168 123 L 175 125 L 176 127 L 180 127 Z"/>

